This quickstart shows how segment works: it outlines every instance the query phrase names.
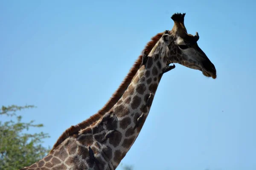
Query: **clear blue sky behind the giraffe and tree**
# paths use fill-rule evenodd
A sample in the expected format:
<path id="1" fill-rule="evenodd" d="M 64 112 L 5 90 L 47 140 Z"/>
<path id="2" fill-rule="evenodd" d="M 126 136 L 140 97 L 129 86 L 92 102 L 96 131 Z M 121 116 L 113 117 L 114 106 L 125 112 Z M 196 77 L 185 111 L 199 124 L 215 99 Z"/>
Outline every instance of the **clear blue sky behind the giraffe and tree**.
<path id="1" fill-rule="evenodd" d="M 157 89 L 123 164 L 134 170 L 256 169 L 253 0 L 0 1 L 0 105 L 36 105 L 23 120 L 55 143 L 96 113 L 152 36 L 186 12 L 217 79 L 176 65 Z M 0 117 L 1 120 L 5 118 Z M 39 130 L 39 131 L 38 131 Z M 120 170 L 120 168 L 118 168 Z"/>

